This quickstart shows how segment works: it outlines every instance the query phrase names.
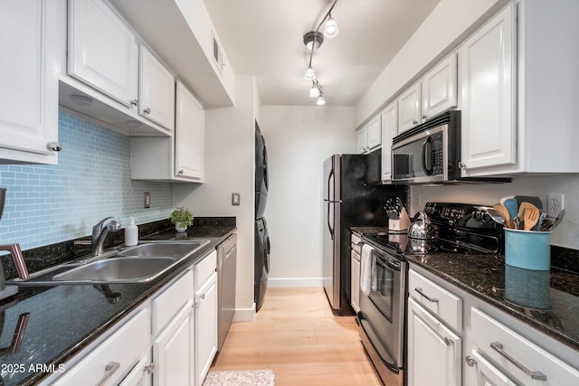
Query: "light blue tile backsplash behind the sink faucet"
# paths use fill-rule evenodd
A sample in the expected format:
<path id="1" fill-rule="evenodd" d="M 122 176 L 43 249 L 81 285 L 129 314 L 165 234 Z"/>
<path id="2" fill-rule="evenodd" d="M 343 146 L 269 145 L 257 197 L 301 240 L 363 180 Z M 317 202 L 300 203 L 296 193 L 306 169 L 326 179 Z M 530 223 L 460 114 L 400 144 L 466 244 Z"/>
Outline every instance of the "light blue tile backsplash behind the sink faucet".
<path id="1" fill-rule="evenodd" d="M 0 165 L 7 189 L 0 244 L 31 249 L 87 236 L 108 216 L 123 228 L 130 216 L 138 224 L 169 216 L 172 184 L 131 181 L 128 137 L 61 110 L 59 141 L 58 165 Z"/>

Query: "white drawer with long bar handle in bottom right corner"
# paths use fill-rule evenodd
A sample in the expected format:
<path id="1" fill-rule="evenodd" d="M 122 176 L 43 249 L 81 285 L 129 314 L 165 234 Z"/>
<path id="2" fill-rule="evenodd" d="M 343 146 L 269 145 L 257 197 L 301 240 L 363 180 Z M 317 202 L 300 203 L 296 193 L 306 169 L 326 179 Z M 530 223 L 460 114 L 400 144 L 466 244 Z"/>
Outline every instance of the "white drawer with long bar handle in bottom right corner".
<path id="1" fill-rule="evenodd" d="M 478 352 L 508 376 L 528 385 L 579 384 L 577 369 L 476 308 L 471 310 L 471 325 Z"/>

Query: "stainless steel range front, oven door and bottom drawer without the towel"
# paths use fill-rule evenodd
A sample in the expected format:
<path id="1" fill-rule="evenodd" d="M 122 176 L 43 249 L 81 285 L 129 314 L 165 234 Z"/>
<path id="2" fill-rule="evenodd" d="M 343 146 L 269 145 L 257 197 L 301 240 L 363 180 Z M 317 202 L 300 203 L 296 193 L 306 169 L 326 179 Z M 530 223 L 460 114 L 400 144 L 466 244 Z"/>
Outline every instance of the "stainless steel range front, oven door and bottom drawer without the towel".
<path id="1" fill-rule="evenodd" d="M 360 338 L 384 383 L 402 384 L 406 262 L 372 253 L 376 286 L 368 296 L 360 294 Z"/>

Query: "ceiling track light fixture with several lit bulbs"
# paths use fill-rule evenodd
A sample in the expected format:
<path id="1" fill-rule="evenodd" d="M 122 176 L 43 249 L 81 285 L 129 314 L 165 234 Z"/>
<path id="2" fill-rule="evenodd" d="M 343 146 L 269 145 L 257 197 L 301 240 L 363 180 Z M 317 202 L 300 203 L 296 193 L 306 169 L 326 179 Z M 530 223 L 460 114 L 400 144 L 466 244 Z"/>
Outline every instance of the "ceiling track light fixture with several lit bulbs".
<path id="1" fill-rule="evenodd" d="M 304 44 L 309 50 L 309 63 L 308 69 L 306 70 L 305 78 L 306 80 L 312 81 L 312 87 L 311 89 L 309 89 L 309 96 L 312 98 L 318 97 L 316 102 L 318 106 L 325 105 L 326 99 L 324 99 L 324 91 L 321 89 L 321 86 L 319 85 L 318 80 L 316 79 L 316 71 L 314 71 L 314 68 L 311 65 L 311 60 L 314 57 L 314 51 L 318 50 L 318 48 L 324 42 L 324 35 L 326 35 L 326 37 L 328 38 L 333 38 L 337 36 L 338 33 L 337 23 L 332 17 L 332 10 L 334 9 L 334 6 L 336 6 L 336 3 L 337 0 L 334 0 L 334 3 L 332 4 L 332 6 L 330 6 L 329 10 L 327 11 L 327 14 L 322 18 L 322 21 L 318 24 L 318 28 L 316 28 L 315 31 L 306 33 L 304 35 Z M 319 33 L 319 29 L 321 28 L 322 25 L 324 25 L 324 23 L 326 23 L 324 33 Z"/>

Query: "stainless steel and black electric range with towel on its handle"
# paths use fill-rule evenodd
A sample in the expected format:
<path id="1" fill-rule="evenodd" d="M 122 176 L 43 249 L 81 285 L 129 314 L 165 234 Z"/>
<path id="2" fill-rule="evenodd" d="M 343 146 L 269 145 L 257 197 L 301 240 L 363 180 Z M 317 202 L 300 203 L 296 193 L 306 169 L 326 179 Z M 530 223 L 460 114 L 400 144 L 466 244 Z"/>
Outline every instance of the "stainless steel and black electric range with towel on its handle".
<path id="1" fill-rule="evenodd" d="M 376 372 L 386 385 L 403 385 L 408 254 L 491 254 L 502 249 L 500 226 L 489 207 L 465 203 L 429 202 L 423 212 L 434 228 L 432 239 L 413 239 L 406 233 L 365 233 L 361 268 L 374 272 L 361 286 L 360 338 Z M 365 270 L 364 264 L 371 268 Z M 360 278 L 361 283 L 366 280 Z"/>

